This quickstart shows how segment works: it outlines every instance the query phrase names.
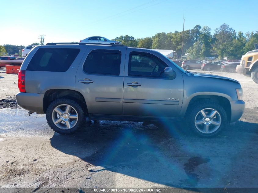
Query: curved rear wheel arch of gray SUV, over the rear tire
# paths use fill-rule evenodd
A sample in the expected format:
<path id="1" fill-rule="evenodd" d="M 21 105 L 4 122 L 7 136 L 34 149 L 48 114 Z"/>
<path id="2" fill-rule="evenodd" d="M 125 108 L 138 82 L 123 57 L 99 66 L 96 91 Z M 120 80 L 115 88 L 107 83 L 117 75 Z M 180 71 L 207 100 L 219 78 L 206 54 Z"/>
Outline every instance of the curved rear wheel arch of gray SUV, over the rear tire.
<path id="1" fill-rule="evenodd" d="M 80 92 L 70 89 L 50 89 L 45 92 L 43 98 L 44 113 L 46 113 L 46 110 L 50 103 L 59 98 L 68 98 L 74 100 L 82 106 L 82 109 L 85 110 L 86 113 L 88 112 L 85 98 Z"/>

